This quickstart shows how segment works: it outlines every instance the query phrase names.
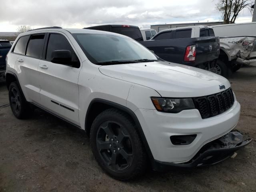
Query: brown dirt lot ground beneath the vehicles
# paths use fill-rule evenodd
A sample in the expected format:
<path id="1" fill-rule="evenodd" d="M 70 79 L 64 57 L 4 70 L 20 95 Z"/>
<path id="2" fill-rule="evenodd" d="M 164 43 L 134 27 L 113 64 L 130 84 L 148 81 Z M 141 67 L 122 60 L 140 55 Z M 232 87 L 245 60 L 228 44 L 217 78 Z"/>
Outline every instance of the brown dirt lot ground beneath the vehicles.
<path id="1" fill-rule="evenodd" d="M 256 191 L 256 67 L 246 66 L 229 79 L 242 106 L 237 129 L 254 140 L 235 158 L 210 167 L 148 173 L 136 181 L 107 176 L 81 130 L 36 110 L 28 120 L 0 108 L 0 192 L 24 191 Z M 0 106 L 8 92 L 0 82 Z"/>

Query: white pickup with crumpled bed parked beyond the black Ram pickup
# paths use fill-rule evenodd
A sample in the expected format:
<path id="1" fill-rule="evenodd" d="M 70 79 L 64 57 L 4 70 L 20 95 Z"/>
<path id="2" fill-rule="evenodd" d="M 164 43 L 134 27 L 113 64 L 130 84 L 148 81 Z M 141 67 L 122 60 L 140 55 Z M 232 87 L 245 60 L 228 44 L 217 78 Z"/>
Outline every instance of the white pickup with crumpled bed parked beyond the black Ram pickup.
<path id="1" fill-rule="evenodd" d="M 190 38 L 215 36 L 214 30 L 210 26 L 186 26 L 166 29 L 161 32 L 180 29 L 190 29 L 192 31 Z M 256 58 L 255 41 L 256 36 L 220 37 L 219 58 L 216 63 L 208 63 L 209 66 L 205 66 L 204 69 L 225 77 L 228 76 L 238 70 L 242 63 L 254 61 L 253 59 Z"/>

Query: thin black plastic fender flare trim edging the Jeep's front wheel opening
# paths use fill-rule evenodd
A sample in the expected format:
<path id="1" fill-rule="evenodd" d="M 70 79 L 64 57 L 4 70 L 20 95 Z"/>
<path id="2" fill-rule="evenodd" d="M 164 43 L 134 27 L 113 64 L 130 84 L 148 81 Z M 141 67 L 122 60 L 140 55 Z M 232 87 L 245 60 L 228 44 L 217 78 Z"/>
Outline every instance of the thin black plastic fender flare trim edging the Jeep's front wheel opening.
<path id="1" fill-rule="evenodd" d="M 88 106 L 88 109 L 87 109 L 87 112 L 86 112 L 86 117 L 85 117 L 85 130 L 87 130 L 87 128 L 86 128 L 86 123 L 87 123 L 87 120 L 88 120 L 89 111 L 91 110 L 92 104 L 94 104 L 94 103 L 107 104 L 107 105 L 109 105 L 109 106 L 112 106 L 113 108 L 117 108 L 117 109 L 119 109 L 119 110 L 122 110 L 122 111 L 126 112 L 127 114 L 129 114 L 129 115 L 132 117 L 132 119 L 134 120 L 134 122 L 135 122 L 135 124 L 136 124 L 138 133 L 140 134 L 140 138 L 142 139 L 142 142 L 143 142 L 144 147 L 145 147 L 145 149 L 146 149 L 146 153 L 148 154 L 148 158 L 150 159 L 150 162 L 153 163 L 153 162 L 154 162 L 154 157 L 153 157 L 153 155 L 152 155 L 152 152 L 151 152 L 150 147 L 149 147 L 149 145 L 148 145 L 148 142 L 147 142 L 147 140 L 146 140 L 146 136 L 145 136 L 145 134 L 144 134 L 144 132 L 143 132 L 143 130 L 142 130 L 142 127 L 141 127 L 141 125 L 140 125 L 140 122 L 139 122 L 139 120 L 138 120 L 136 114 L 135 114 L 132 110 L 130 110 L 129 108 L 127 108 L 126 106 L 122 106 L 122 105 L 117 104 L 117 103 L 112 102 L 112 101 L 108 101 L 108 100 L 104 100 L 104 99 L 100 99 L 100 98 L 94 98 L 94 99 L 90 102 L 90 104 L 89 104 L 89 106 Z"/>

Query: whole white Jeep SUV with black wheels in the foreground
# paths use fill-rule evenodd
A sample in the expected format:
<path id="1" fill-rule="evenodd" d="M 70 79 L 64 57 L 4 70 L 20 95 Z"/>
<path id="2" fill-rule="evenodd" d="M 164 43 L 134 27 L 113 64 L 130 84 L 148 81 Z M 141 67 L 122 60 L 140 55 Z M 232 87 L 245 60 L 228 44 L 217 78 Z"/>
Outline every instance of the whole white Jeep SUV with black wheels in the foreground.
<path id="1" fill-rule="evenodd" d="M 14 116 L 30 105 L 86 130 L 99 165 L 129 180 L 147 165 L 215 164 L 250 142 L 226 78 L 165 62 L 116 33 L 60 27 L 18 36 L 6 58 Z"/>

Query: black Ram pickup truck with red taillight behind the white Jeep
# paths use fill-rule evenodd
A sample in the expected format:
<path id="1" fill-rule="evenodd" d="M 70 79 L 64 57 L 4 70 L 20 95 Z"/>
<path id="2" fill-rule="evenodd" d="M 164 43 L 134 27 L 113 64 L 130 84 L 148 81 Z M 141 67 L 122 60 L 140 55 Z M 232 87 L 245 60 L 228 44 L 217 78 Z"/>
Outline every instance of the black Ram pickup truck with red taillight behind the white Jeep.
<path id="1" fill-rule="evenodd" d="M 123 34 L 137 40 L 149 50 L 154 51 L 163 60 L 221 74 L 220 71 L 216 70 L 216 62 L 220 54 L 220 38 L 214 36 L 192 38 L 191 28 L 175 30 L 173 32 L 159 32 L 149 41 L 143 41 L 137 26 L 105 25 L 84 29 Z"/>

